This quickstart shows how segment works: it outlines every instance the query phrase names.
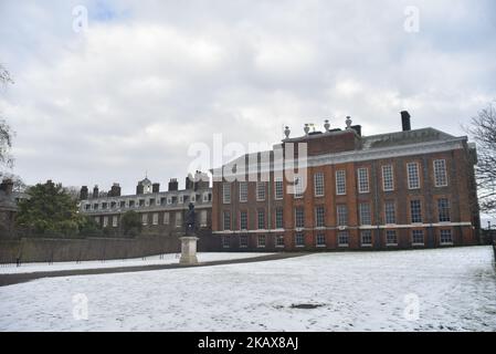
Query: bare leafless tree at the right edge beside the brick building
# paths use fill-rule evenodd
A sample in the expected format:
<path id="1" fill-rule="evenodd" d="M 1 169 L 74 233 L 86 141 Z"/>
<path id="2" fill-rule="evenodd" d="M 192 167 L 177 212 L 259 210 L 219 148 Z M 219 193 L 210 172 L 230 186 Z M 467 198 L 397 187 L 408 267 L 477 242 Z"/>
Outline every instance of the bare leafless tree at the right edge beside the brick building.
<path id="1" fill-rule="evenodd" d="M 467 128 L 477 144 L 475 168 L 481 210 L 496 215 L 496 101 L 478 112 Z"/>

